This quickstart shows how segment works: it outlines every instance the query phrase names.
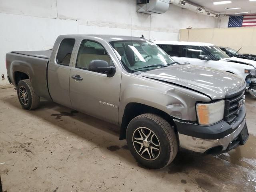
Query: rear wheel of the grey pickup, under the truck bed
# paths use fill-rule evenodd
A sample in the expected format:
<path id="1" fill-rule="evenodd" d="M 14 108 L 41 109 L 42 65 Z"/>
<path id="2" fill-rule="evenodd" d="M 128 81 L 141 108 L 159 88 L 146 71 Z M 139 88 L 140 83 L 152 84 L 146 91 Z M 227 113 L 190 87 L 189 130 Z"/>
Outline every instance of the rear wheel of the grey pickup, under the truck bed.
<path id="1" fill-rule="evenodd" d="M 26 94 L 23 95 L 22 92 Z M 35 94 L 29 79 L 19 81 L 17 86 L 17 94 L 23 109 L 32 110 L 38 107 L 40 103 L 40 97 Z"/>

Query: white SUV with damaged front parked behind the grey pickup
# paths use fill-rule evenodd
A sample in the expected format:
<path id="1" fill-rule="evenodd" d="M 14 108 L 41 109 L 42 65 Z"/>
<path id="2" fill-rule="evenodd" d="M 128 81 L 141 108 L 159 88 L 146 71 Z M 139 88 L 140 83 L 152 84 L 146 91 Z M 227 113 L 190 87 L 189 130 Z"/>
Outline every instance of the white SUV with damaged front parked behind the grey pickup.
<path id="1" fill-rule="evenodd" d="M 214 44 L 201 42 L 154 41 L 182 64 L 216 68 L 242 77 L 246 90 L 256 98 L 256 61 L 229 57 Z"/>

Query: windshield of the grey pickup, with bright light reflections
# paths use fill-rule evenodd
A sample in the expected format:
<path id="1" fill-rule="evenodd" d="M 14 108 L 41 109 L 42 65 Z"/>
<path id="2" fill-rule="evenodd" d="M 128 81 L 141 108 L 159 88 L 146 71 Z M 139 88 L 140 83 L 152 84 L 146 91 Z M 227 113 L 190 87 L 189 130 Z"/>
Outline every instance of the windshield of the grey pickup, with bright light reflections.
<path id="1" fill-rule="evenodd" d="M 147 40 L 113 41 L 110 44 L 128 72 L 153 70 L 174 62 L 160 47 Z"/>

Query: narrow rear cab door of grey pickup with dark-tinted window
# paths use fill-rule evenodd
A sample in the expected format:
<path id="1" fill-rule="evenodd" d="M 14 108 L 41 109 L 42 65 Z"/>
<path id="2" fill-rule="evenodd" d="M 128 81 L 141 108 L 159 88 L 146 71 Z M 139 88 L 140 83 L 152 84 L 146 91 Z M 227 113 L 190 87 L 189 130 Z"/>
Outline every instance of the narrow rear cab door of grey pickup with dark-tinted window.
<path id="1" fill-rule="evenodd" d="M 59 36 L 54 44 L 48 65 L 48 88 L 52 100 L 72 107 L 69 95 L 69 78 L 78 37 Z"/>

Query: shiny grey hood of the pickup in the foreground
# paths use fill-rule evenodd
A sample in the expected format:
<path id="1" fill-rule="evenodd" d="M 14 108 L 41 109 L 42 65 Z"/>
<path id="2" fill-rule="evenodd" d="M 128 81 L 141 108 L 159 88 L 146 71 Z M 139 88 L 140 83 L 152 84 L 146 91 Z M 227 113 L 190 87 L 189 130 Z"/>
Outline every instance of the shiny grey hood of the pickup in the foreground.
<path id="1" fill-rule="evenodd" d="M 244 80 L 228 72 L 192 65 L 173 65 L 140 73 L 140 76 L 186 87 L 209 96 L 223 99 L 227 93 L 239 90 Z"/>

